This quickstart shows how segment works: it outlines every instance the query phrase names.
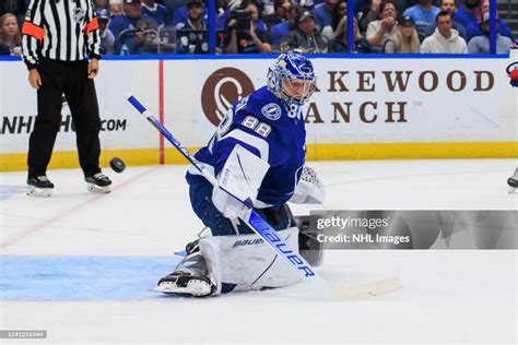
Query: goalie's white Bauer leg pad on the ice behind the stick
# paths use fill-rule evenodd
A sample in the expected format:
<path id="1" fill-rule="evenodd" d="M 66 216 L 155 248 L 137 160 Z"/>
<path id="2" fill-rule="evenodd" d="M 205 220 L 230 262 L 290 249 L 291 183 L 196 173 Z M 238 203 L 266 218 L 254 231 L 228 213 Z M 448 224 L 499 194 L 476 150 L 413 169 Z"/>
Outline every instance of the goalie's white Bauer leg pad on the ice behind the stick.
<path id="1" fill-rule="evenodd" d="M 298 252 L 296 227 L 278 234 Z M 214 295 L 283 287 L 301 279 L 256 234 L 202 238 L 200 251 L 215 283 Z"/>

